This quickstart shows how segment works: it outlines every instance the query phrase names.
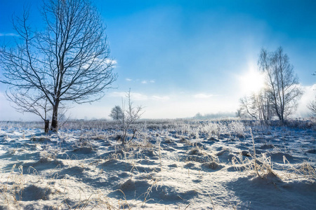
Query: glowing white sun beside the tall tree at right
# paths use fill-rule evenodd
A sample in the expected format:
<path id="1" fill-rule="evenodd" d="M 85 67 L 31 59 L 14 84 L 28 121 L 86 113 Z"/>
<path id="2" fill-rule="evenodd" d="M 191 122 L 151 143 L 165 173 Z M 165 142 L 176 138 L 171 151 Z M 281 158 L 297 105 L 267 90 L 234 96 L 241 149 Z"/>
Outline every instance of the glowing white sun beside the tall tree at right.
<path id="1" fill-rule="evenodd" d="M 251 68 L 239 77 L 239 83 L 244 94 L 252 94 L 259 92 L 264 87 L 265 78 L 263 73 Z"/>

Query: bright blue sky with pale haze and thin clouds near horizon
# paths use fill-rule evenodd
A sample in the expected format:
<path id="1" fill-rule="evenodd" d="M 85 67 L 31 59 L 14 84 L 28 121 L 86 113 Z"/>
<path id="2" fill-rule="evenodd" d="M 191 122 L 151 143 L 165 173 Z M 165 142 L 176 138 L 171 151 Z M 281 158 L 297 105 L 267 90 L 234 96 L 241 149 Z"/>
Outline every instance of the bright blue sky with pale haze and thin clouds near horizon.
<path id="1" fill-rule="evenodd" d="M 10 22 L 24 2 L 32 23 L 41 1 L 0 0 L 0 41 L 14 31 Z M 131 88 L 144 118 L 183 118 L 196 113 L 235 112 L 244 78 L 256 71 L 261 48 L 282 46 L 305 89 L 298 113 L 315 97 L 316 1 L 93 1 L 107 25 L 117 89 L 100 102 L 73 105 L 72 118 L 108 118 Z M 315 89 L 315 88 L 314 88 Z M 4 100 L 0 120 L 28 119 Z M 1 94 L 2 93 L 2 94 Z"/>

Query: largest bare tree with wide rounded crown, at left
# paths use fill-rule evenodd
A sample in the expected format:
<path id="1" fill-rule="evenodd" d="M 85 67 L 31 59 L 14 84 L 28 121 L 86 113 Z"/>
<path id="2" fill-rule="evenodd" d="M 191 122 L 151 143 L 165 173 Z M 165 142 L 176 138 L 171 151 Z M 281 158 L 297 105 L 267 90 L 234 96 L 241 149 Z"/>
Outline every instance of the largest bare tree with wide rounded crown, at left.
<path id="1" fill-rule="evenodd" d="M 28 24 L 29 10 L 13 19 L 20 40 L 16 40 L 15 48 L 4 45 L 0 50 L 4 76 L 0 81 L 10 89 L 6 92 L 8 99 L 17 102 L 22 111 L 29 111 L 27 106 L 32 102 L 48 102 L 51 129 L 57 130 L 62 102 L 96 101 L 117 75 L 112 73 L 114 61 L 105 26 L 90 1 L 43 1 L 41 15 L 46 29 L 39 32 Z"/>

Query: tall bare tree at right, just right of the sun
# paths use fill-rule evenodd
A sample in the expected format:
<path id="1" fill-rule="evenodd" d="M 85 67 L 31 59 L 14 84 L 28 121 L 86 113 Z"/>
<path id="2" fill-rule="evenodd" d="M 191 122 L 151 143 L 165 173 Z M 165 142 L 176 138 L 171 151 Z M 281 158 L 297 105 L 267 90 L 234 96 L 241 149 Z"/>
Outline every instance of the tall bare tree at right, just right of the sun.
<path id="1" fill-rule="evenodd" d="M 279 120 L 284 120 L 297 108 L 298 99 L 303 90 L 298 85 L 298 77 L 294 76 L 294 67 L 281 47 L 275 52 L 261 50 L 258 66 L 267 76 L 266 85 L 272 109 Z"/>

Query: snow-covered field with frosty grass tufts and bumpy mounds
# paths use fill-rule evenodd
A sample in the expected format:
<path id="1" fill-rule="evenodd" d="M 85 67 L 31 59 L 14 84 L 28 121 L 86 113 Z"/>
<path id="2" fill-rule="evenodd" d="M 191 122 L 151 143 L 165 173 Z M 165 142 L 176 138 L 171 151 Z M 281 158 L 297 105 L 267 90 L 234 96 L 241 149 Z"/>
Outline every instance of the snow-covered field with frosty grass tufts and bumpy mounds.
<path id="1" fill-rule="evenodd" d="M 35 123 L 0 123 L 0 209 L 316 207 L 312 122 L 135 126 L 122 145 L 113 122 L 73 122 L 48 135 Z"/>

